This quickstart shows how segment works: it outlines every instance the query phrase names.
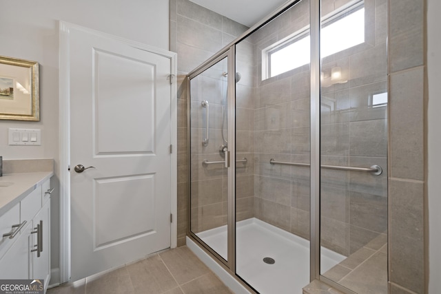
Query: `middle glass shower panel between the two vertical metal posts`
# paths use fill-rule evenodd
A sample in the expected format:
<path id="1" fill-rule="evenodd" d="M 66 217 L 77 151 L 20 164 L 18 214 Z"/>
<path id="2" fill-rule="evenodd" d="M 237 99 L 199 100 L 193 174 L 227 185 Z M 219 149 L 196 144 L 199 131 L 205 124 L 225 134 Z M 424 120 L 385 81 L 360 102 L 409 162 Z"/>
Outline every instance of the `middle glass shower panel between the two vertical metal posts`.
<path id="1" fill-rule="evenodd" d="M 238 42 L 236 71 L 236 275 L 258 293 L 301 293 L 310 252 L 309 1 Z"/>

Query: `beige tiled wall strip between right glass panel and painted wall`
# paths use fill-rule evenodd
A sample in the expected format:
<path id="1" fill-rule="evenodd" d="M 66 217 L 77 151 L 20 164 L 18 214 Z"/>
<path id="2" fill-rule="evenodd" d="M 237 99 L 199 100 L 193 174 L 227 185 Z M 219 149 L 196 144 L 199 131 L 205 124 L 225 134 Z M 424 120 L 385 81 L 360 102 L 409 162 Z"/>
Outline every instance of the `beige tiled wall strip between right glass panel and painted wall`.
<path id="1" fill-rule="evenodd" d="M 385 2 L 385 1 L 384 1 Z M 427 293 L 425 1 L 389 0 L 390 293 Z"/>

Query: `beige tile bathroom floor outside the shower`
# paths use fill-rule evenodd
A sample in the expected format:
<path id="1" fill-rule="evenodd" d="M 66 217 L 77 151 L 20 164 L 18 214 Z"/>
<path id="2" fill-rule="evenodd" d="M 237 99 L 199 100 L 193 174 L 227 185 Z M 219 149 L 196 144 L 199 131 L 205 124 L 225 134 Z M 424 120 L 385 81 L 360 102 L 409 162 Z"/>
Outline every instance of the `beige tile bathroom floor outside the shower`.
<path id="1" fill-rule="evenodd" d="M 152 255 L 98 278 L 85 278 L 48 290 L 48 294 L 231 294 L 186 246 Z"/>

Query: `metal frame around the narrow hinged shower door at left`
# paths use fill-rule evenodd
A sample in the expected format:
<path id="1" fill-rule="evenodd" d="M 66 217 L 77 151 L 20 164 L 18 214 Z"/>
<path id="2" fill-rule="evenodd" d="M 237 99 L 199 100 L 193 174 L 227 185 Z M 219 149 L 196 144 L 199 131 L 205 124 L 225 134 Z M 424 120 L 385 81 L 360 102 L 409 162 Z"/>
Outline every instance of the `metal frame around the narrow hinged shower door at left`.
<path id="1" fill-rule="evenodd" d="M 192 178 L 191 178 L 191 168 L 192 168 L 192 151 L 191 151 L 191 113 L 192 113 L 192 99 L 191 99 L 191 87 L 190 83 L 192 78 L 195 78 L 199 74 L 205 72 L 210 67 L 215 65 L 216 63 L 222 61 L 227 58 L 227 72 L 236 72 L 236 45 L 229 45 L 224 50 L 218 52 L 216 55 L 212 56 L 208 61 L 197 67 L 191 73 L 187 75 L 187 166 L 189 169 L 188 172 L 188 185 L 187 185 L 187 236 L 191 237 L 195 240 L 205 251 L 213 255 L 218 263 L 223 266 L 224 269 L 227 269 L 235 274 L 236 272 L 236 251 L 234 250 L 234 244 L 236 244 L 236 201 L 233 196 L 235 196 L 234 190 L 236 187 L 235 184 L 235 173 L 234 169 L 236 168 L 236 154 L 235 148 L 232 146 L 236 145 L 236 136 L 234 132 L 232 132 L 236 128 L 236 87 L 227 87 L 227 113 L 230 114 L 227 120 L 227 138 L 229 142 L 228 152 L 229 152 L 229 167 L 227 168 L 227 260 L 222 258 L 216 251 L 214 251 L 211 247 L 209 247 L 201 238 L 192 232 L 191 220 L 192 220 L 192 202 L 191 202 L 191 191 L 192 191 Z M 227 85 L 235 85 L 235 74 L 227 75 Z M 232 150 L 230 150 L 232 148 Z M 227 155 L 225 155 L 227 156 Z M 233 164 L 234 163 L 234 164 Z"/>

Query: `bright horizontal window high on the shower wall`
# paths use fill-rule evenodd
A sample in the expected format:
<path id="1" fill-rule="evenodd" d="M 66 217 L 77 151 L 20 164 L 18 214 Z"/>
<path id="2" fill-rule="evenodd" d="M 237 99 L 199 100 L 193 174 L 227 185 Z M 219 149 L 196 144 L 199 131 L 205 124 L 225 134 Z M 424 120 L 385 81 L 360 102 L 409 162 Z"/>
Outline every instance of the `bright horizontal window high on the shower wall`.
<path id="1" fill-rule="evenodd" d="M 358 2 L 323 21 L 320 56 L 324 58 L 365 42 L 365 7 Z M 309 28 L 263 50 L 263 79 L 283 74 L 310 61 Z"/>

